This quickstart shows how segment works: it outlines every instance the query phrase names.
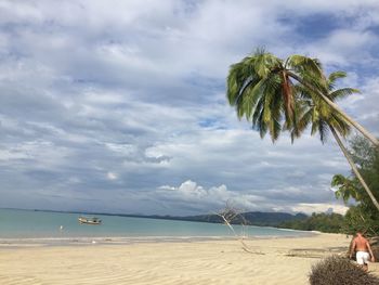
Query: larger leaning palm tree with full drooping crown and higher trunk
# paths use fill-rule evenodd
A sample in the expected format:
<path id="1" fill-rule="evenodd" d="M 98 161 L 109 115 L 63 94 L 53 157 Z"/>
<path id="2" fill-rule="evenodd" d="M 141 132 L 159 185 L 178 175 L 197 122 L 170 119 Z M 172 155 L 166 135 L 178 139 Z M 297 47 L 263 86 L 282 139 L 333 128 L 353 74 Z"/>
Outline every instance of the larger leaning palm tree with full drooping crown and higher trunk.
<path id="1" fill-rule="evenodd" d="M 296 90 L 292 80 L 314 94 L 313 100 L 323 100 L 337 111 L 350 125 L 379 146 L 379 141 L 365 128 L 348 116 L 328 96 L 327 79 L 321 63 L 315 59 L 291 55 L 283 61 L 264 50 L 245 57 L 231 66 L 227 77 L 227 99 L 236 107 L 238 118 L 252 121 L 261 137 L 269 131 L 273 141 L 280 133 L 283 115 L 287 125 L 297 121 Z"/>

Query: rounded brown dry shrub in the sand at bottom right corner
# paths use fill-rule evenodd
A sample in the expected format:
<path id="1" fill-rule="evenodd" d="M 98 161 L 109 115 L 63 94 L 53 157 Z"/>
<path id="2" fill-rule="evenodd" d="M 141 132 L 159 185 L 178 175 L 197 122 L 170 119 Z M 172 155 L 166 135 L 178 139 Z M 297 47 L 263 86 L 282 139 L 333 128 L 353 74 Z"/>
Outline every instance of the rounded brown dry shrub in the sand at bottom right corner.
<path id="1" fill-rule="evenodd" d="M 347 258 L 331 256 L 312 267 L 310 283 L 311 285 L 379 285 L 379 278 L 363 271 Z"/>

